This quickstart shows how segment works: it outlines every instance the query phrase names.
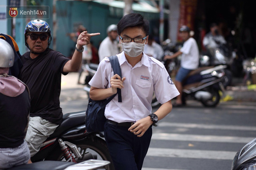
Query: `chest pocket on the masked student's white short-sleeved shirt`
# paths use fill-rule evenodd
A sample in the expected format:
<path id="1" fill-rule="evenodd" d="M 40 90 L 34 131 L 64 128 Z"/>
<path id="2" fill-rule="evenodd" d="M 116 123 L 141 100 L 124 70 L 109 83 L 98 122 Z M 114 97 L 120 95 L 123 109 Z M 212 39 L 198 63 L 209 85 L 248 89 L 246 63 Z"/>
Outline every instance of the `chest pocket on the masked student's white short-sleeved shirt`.
<path id="1" fill-rule="evenodd" d="M 136 89 L 137 95 L 141 97 L 149 96 L 152 82 L 150 82 L 149 80 L 142 80 L 140 78 L 137 78 L 135 84 L 136 84 L 135 89 Z"/>

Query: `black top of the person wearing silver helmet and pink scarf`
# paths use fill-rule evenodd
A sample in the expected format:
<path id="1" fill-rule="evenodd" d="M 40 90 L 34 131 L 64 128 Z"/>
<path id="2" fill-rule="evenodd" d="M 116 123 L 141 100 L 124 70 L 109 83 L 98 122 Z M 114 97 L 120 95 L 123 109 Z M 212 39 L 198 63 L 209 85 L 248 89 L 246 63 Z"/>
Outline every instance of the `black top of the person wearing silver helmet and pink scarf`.
<path id="1" fill-rule="evenodd" d="M 29 108 L 28 90 L 16 97 L 0 93 L 0 148 L 16 148 L 24 142 Z"/>

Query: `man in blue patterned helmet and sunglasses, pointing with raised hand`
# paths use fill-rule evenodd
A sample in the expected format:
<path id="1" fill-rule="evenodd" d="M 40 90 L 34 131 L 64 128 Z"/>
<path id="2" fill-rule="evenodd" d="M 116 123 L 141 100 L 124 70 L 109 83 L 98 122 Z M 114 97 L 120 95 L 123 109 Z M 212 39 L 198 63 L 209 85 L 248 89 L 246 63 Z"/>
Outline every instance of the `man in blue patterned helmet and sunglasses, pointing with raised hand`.
<path id="1" fill-rule="evenodd" d="M 90 37 L 99 33 L 82 32 L 77 39 L 72 59 L 49 48 L 51 30 L 47 22 L 31 20 L 24 32 L 25 44 L 30 50 L 21 56 L 23 66 L 19 79 L 24 82 L 31 95 L 29 127 L 25 140 L 31 156 L 35 155 L 40 145 L 54 132 L 62 122 L 62 109 L 59 96 L 61 93 L 61 74 L 78 71 L 83 46 L 90 43 Z"/>

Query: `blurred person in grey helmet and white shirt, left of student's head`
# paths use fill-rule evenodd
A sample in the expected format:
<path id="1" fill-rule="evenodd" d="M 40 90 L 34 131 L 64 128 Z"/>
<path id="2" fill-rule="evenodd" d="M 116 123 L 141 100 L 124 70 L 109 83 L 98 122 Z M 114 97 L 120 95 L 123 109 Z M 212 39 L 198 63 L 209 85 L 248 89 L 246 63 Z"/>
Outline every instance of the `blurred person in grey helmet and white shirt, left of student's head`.
<path id="1" fill-rule="evenodd" d="M 99 61 L 105 57 L 114 56 L 119 53 L 117 26 L 112 24 L 107 27 L 107 37 L 100 43 L 99 47 Z"/>

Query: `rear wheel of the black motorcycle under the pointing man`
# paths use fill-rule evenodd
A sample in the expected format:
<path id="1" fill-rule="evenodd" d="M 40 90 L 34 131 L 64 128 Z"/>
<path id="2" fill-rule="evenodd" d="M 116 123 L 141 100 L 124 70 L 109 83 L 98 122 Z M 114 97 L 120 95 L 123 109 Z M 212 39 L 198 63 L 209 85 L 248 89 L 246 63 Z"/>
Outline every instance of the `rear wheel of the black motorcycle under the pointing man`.
<path id="1" fill-rule="evenodd" d="M 113 165 L 112 158 L 109 154 L 109 150 L 107 148 L 107 144 L 103 139 L 96 136 L 92 139 L 86 138 L 86 139 L 79 140 L 79 141 L 73 141 L 73 140 L 64 140 L 64 141 L 69 141 L 70 143 L 75 144 L 82 155 L 81 158 L 83 158 L 83 155 L 86 152 L 89 152 L 92 155 L 97 155 L 97 160 L 107 160 L 110 162 L 110 164 L 107 165 L 106 170 L 114 170 L 115 169 L 114 165 Z M 73 154 L 73 156 L 74 156 L 74 154 Z M 61 148 L 59 146 L 57 148 L 55 148 L 52 151 L 52 153 L 50 154 L 50 156 L 48 156 L 48 158 L 46 158 L 45 160 L 66 161 L 66 159 L 64 157 L 64 153 L 61 151 Z M 88 159 L 85 159 L 85 160 L 79 159 L 78 160 L 78 158 L 75 158 L 75 160 L 76 160 L 76 162 L 79 163 L 82 161 L 86 161 Z"/>

